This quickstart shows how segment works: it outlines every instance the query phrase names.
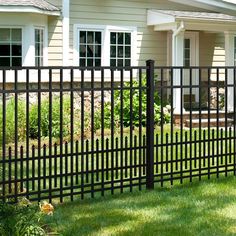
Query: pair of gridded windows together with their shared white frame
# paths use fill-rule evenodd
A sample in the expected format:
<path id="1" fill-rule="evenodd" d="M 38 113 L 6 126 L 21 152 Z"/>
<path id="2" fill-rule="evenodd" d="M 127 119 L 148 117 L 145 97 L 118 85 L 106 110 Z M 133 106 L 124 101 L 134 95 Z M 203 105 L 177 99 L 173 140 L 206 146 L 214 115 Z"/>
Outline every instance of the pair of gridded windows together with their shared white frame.
<path id="1" fill-rule="evenodd" d="M 136 28 L 76 25 L 75 65 L 123 67 L 135 64 Z"/>

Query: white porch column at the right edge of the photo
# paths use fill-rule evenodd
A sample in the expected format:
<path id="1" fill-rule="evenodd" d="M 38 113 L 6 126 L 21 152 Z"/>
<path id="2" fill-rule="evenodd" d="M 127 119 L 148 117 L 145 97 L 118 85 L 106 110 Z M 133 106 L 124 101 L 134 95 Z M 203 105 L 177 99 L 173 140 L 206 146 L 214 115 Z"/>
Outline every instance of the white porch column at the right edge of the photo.
<path id="1" fill-rule="evenodd" d="M 234 66 L 234 32 L 225 32 L 225 66 Z M 234 70 L 228 69 L 227 85 L 234 84 Z M 234 111 L 234 88 L 227 88 L 227 112 Z"/>

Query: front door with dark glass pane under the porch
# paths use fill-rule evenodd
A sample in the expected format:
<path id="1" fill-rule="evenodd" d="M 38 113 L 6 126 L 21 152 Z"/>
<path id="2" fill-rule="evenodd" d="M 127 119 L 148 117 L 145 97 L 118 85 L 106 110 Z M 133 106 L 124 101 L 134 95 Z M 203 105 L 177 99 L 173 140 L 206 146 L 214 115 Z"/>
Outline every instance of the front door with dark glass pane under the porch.
<path id="1" fill-rule="evenodd" d="M 190 69 L 191 66 L 199 65 L 199 40 L 198 32 L 185 32 L 184 36 L 184 79 L 183 84 L 187 86 L 184 88 L 184 103 L 185 108 L 188 108 L 190 101 L 192 105 L 196 106 L 199 103 L 199 89 L 190 88 L 191 85 L 199 85 L 198 70 Z"/>

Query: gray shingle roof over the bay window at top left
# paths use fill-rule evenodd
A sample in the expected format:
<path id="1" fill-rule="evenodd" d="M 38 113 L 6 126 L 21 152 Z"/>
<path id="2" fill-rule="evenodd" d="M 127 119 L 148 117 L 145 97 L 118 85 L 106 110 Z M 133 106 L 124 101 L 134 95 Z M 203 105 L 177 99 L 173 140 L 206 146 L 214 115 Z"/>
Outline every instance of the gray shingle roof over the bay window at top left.
<path id="1" fill-rule="evenodd" d="M 59 11 L 59 9 L 45 0 L 0 0 L 0 6 L 30 6 L 43 11 Z"/>

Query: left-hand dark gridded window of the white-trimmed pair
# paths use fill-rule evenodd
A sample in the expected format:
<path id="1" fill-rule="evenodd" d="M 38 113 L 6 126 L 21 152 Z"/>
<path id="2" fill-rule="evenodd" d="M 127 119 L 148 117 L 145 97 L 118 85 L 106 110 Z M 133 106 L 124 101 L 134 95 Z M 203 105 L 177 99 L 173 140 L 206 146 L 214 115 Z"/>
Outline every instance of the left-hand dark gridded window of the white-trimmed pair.
<path id="1" fill-rule="evenodd" d="M 102 32 L 80 31 L 79 56 L 80 66 L 101 66 Z"/>

